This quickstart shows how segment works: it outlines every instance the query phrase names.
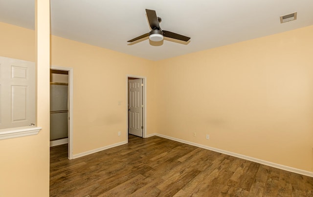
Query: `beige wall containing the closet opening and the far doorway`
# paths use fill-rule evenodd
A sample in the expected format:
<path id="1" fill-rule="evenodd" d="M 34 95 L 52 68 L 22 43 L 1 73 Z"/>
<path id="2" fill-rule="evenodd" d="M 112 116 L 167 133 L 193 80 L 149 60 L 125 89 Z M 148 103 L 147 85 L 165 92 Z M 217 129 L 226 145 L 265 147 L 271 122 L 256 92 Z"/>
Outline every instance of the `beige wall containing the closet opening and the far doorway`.
<path id="1" fill-rule="evenodd" d="M 151 61 L 52 36 L 51 65 L 73 68 L 74 155 L 127 140 L 127 75 L 147 77 L 147 131 L 155 133 Z"/>

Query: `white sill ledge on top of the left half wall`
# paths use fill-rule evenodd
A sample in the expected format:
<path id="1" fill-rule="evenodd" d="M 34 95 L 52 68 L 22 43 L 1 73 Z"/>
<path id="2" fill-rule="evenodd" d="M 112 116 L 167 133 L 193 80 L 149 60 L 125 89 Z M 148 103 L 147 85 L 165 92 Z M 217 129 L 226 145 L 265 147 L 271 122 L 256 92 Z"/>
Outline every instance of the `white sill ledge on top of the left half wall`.
<path id="1" fill-rule="evenodd" d="M 0 130 L 0 139 L 18 138 L 22 136 L 33 136 L 37 135 L 41 130 L 41 127 L 16 127 Z"/>

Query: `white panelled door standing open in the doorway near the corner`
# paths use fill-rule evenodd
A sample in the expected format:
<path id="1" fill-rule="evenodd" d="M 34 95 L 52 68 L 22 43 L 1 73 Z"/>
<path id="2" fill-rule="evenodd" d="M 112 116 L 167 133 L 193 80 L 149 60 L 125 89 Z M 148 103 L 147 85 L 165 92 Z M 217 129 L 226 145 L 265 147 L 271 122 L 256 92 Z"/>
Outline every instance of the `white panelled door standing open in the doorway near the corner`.
<path id="1" fill-rule="evenodd" d="M 128 132 L 142 137 L 142 79 L 128 81 Z"/>

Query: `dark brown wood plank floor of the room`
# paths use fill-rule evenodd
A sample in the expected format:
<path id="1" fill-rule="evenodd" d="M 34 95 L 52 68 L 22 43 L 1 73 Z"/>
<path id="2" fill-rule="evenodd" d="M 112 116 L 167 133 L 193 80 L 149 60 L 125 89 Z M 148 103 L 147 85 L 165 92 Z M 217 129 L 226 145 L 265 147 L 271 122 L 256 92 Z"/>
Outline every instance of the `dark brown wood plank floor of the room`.
<path id="1" fill-rule="evenodd" d="M 73 160 L 50 149 L 50 196 L 313 197 L 313 178 L 169 139 L 129 143 Z"/>

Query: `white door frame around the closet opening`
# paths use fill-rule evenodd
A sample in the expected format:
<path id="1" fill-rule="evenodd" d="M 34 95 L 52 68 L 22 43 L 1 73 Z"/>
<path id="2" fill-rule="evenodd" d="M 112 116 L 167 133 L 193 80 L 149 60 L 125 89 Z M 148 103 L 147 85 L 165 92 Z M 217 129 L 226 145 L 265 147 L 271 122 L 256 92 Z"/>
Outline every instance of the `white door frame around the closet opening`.
<path id="1" fill-rule="evenodd" d="M 73 68 L 50 66 L 52 70 L 68 71 L 68 159 L 73 159 Z"/>

